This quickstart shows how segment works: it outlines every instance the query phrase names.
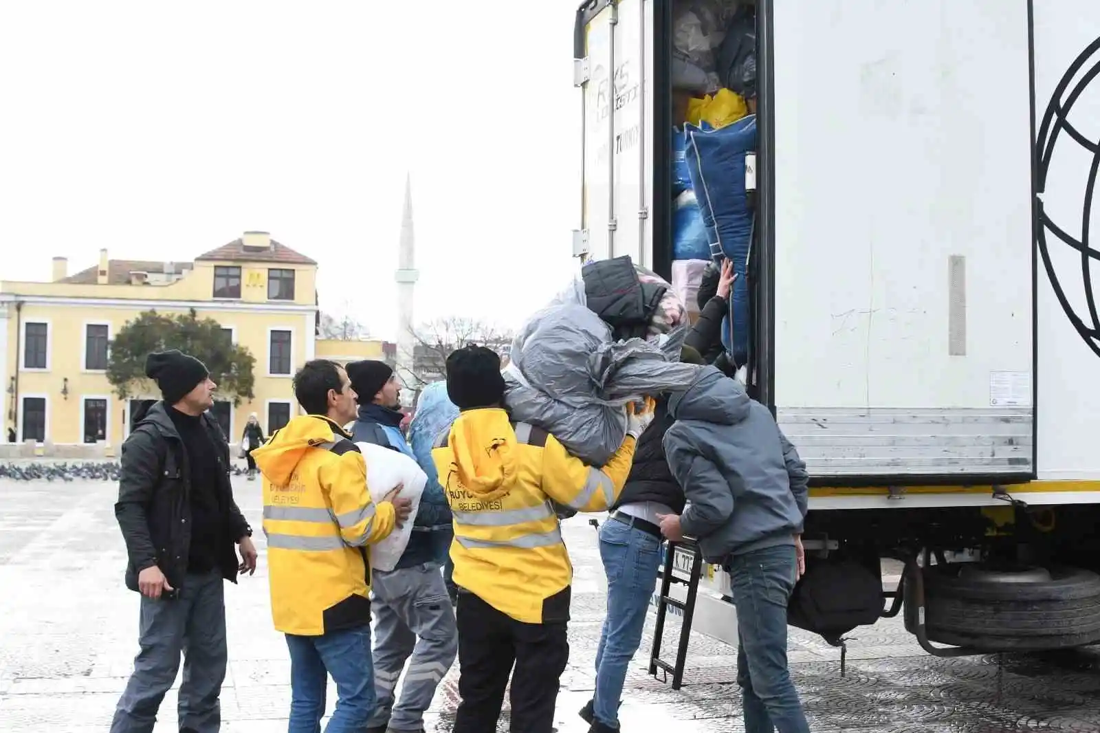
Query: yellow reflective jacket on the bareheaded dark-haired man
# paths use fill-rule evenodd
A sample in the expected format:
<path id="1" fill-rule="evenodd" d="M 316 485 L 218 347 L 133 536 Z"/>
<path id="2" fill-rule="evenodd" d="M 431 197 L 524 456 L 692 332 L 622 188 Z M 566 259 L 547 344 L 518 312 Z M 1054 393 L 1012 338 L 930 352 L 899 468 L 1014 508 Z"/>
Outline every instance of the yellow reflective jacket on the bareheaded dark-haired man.
<path id="1" fill-rule="evenodd" d="M 371 622 L 367 545 L 393 532 L 374 504 L 351 436 L 324 417 L 295 417 L 252 457 L 263 474 L 264 535 L 275 628 L 318 636 Z"/>

